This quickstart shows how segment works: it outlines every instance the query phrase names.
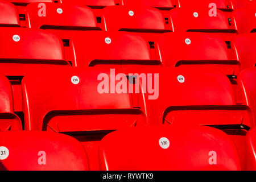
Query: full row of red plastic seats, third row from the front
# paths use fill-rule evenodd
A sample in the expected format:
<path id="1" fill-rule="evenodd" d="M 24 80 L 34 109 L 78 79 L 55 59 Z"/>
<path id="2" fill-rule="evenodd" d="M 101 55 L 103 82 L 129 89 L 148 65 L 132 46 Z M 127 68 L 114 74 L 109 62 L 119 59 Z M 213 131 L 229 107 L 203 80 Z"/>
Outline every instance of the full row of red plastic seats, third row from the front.
<path id="1" fill-rule="evenodd" d="M 128 69 L 130 64 L 132 71 L 153 66 L 204 67 L 238 75 L 256 64 L 256 34 L 237 35 L 228 48 L 223 40 L 197 32 L 146 39 L 130 32 L 85 31 L 72 35 L 68 43 L 35 29 L 1 27 L 0 32 L 0 71 L 5 76 L 24 76 L 31 68 L 49 65 Z"/>

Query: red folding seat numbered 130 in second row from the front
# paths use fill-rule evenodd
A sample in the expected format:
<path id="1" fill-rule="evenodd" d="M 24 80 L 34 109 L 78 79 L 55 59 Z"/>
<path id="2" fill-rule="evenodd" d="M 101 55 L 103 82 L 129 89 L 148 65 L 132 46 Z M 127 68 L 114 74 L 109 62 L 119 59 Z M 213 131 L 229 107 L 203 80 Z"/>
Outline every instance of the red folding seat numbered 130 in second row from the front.
<path id="1" fill-rule="evenodd" d="M 25 130 L 78 138 L 88 148 L 90 168 L 97 169 L 97 144 L 102 136 L 147 124 L 141 94 L 120 94 L 116 89 L 118 69 L 62 68 L 49 73 L 22 80 Z"/>

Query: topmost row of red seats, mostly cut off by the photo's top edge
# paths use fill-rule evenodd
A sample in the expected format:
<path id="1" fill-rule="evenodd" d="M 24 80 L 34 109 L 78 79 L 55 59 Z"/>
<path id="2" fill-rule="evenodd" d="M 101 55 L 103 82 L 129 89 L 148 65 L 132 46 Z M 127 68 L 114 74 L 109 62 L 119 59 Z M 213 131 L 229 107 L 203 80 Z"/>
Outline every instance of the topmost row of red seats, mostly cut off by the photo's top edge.
<path id="1" fill-rule="evenodd" d="M 223 11 L 232 11 L 235 9 L 240 9 L 244 7 L 256 7 L 254 1 L 243 1 L 243 0 L 212 0 L 212 1 L 202 1 L 195 0 L 193 2 L 189 0 L 7 0 L 9 2 L 14 3 L 16 6 L 27 6 L 29 3 L 33 2 L 57 2 L 57 3 L 74 3 L 84 6 L 89 6 L 94 9 L 102 9 L 106 6 L 115 6 L 115 5 L 129 5 L 129 6 L 148 6 L 148 7 L 156 7 L 160 10 L 171 10 L 175 7 L 208 7 L 210 3 L 215 3 L 218 9 Z"/>

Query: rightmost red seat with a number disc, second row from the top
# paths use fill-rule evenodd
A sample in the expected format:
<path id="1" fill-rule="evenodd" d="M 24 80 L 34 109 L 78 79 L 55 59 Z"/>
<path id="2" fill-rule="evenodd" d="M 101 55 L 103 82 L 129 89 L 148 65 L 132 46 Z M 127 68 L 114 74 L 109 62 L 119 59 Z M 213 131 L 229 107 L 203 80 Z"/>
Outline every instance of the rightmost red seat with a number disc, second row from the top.
<path id="1" fill-rule="evenodd" d="M 236 27 L 221 10 L 209 14 L 209 9 L 188 7 L 170 11 L 170 24 L 174 32 L 207 32 L 219 36 L 227 43 L 236 35 Z"/>

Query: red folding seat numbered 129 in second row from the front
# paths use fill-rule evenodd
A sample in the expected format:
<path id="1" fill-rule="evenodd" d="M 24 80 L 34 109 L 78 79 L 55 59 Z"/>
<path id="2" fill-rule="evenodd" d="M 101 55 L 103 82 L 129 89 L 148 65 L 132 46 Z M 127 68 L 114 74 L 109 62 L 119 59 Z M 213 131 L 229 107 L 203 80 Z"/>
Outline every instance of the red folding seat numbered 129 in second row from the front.
<path id="1" fill-rule="evenodd" d="M 151 84 L 154 94 L 144 94 L 148 123 L 207 125 L 221 129 L 234 140 L 244 167 L 245 135 L 255 124 L 250 108 L 236 105 L 228 77 L 218 71 L 198 68 L 151 73 L 159 73 L 159 79 Z M 149 98 L 150 95 L 158 97 Z"/>

